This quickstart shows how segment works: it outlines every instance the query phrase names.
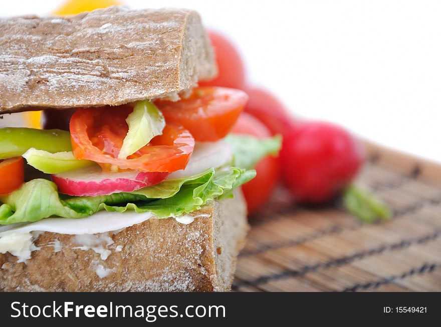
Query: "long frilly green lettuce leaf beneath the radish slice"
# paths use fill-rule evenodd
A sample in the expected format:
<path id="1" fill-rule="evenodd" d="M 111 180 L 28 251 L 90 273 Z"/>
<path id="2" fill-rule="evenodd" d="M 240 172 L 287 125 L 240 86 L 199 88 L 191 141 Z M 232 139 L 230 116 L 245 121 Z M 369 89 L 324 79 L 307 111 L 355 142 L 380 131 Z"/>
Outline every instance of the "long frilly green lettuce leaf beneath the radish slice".
<path id="1" fill-rule="evenodd" d="M 124 212 L 151 211 L 158 218 L 179 216 L 200 209 L 216 197 L 231 191 L 256 175 L 255 170 L 230 167 L 208 169 L 190 177 L 167 179 L 138 189 L 99 196 L 67 196 L 46 179 L 33 179 L 8 196 L 0 198 L 0 224 L 32 222 L 51 216 L 82 218 L 99 210 Z"/>

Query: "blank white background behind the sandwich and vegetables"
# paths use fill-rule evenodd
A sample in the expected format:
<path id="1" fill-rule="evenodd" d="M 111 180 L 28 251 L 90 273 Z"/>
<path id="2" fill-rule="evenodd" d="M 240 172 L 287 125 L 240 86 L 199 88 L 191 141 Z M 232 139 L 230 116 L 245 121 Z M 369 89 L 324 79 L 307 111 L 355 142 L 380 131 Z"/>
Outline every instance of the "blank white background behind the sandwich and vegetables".
<path id="1" fill-rule="evenodd" d="M 56 0 L 0 1 L 0 15 Z M 441 1 L 126 0 L 197 9 L 243 53 L 250 82 L 294 113 L 441 162 Z"/>

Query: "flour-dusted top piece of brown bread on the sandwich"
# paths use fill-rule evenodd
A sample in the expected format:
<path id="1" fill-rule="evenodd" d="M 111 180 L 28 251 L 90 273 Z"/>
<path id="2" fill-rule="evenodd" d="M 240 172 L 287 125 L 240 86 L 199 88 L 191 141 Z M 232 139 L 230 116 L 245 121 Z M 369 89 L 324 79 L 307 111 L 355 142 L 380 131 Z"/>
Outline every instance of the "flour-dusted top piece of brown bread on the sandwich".
<path id="1" fill-rule="evenodd" d="M 193 10 L 113 6 L 0 19 L 0 114 L 178 99 L 215 74 Z"/>

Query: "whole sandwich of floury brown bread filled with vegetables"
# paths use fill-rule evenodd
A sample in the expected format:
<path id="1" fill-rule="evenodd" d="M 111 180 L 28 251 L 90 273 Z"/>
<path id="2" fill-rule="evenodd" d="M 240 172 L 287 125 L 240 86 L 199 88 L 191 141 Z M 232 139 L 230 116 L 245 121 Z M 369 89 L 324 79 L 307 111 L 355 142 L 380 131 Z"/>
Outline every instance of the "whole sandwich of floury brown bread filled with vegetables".
<path id="1" fill-rule="evenodd" d="M 280 139 L 230 134 L 248 97 L 199 15 L 113 6 L 0 19 L 0 290 L 228 291 L 240 186 Z"/>

